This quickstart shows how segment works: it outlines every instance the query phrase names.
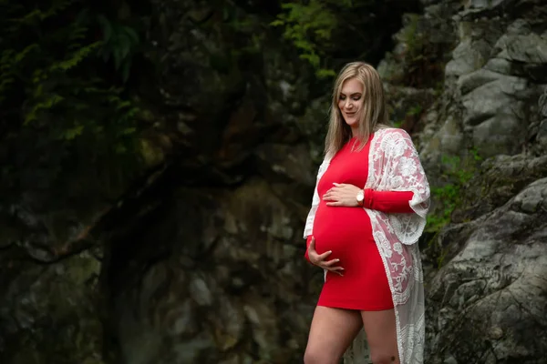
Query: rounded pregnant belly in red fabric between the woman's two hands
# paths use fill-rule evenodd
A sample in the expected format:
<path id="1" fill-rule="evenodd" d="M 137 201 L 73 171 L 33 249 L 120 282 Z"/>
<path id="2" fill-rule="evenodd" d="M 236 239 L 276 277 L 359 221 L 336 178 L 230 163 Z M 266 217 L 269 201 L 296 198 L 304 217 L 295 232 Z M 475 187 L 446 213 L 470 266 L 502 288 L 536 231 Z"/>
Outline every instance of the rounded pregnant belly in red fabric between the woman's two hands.
<path id="1" fill-rule="evenodd" d="M 361 207 L 328 207 L 323 201 L 314 219 L 315 249 L 329 258 L 346 259 L 356 253 L 356 245 L 373 242 L 370 219 Z"/>

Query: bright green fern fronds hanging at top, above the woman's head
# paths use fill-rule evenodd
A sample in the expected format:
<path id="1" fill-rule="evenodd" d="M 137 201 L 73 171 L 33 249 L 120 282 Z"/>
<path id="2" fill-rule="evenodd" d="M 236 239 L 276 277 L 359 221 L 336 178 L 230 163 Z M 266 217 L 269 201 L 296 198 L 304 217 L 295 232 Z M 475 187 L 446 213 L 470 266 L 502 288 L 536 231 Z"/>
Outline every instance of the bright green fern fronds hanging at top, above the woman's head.
<path id="1" fill-rule="evenodd" d="M 353 2 L 338 1 L 336 5 L 349 8 Z M 284 11 L 271 25 L 284 28 L 284 38 L 298 49 L 300 58 L 314 67 L 316 76 L 335 76 L 335 71 L 325 64 L 325 49 L 331 45 L 333 32 L 340 21 L 332 2 L 286 2 L 282 8 Z"/>

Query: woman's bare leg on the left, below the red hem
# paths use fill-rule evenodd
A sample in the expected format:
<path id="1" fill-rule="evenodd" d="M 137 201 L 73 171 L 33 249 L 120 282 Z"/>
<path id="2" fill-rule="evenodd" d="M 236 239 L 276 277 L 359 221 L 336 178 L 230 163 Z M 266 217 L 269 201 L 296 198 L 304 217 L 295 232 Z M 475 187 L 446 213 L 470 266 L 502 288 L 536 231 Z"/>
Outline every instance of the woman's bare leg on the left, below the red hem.
<path id="1" fill-rule="evenodd" d="M 304 364 L 338 364 L 362 327 L 359 311 L 317 306 Z"/>

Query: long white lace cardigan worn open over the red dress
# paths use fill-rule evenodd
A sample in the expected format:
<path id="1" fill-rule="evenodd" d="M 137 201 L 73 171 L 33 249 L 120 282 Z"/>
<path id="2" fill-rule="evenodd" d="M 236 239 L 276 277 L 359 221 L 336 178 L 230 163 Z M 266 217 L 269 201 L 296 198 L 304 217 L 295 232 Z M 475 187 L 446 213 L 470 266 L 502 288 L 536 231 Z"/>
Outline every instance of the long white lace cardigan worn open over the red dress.
<path id="1" fill-rule="evenodd" d="M 317 183 L 328 168 L 326 156 L 317 173 Z M 365 209 L 386 268 L 395 306 L 397 347 L 401 364 L 422 364 L 424 351 L 424 286 L 418 238 L 426 225 L 429 185 L 418 152 L 402 129 L 379 129 L 373 136 L 368 156 L 366 188 L 377 191 L 412 191 L 409 202 L 414 213 L 386 214 Z M 306 218 L 304 238 L 313 233 L 319 195 L 315 185 L 312 207 Z M 369 351 L 363 330 L 347 349 L 346 364 L 368 364 Z"/>

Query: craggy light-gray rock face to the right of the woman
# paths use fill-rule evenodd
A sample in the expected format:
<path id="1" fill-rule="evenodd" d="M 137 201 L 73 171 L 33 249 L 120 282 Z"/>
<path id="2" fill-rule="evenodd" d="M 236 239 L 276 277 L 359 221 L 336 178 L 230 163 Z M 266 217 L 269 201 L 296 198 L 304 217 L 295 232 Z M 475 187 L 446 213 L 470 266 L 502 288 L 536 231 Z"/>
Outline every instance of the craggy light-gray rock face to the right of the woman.
<path id="1" fill-rule="evenodd" d="M 426 362 L 542 363 L 547 24 L 541 15 L 547 7 L 540 1 L 424 3 L 418 22 L 434 31 L 428 19 L 444 13 L 455 36 L 445 37 L 454 43 L 442 91 L 418 123 L 434 212 L 449 205 L 439 187 L 461 185 L 452 224 L 424 242 Z M 446 180 L 450 157 L 474 159 L 470 178 Z"/>

